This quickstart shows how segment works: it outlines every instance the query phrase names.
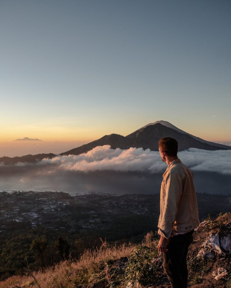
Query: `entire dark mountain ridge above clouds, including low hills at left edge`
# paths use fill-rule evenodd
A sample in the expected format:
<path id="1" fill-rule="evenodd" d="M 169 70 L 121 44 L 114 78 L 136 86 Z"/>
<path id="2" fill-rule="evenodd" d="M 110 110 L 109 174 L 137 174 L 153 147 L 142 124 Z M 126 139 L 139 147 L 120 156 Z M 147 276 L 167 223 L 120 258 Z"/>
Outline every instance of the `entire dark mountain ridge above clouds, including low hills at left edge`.
<path id="1" fill-rule="evenodd" d="M 162 124 L 160 123 L 162 122 Z M 165 125 L 163 125 L 163 123 Z M 171 127 L 168 127 L 168 126 Z M 153 123 L 149 123 L 136 131 L 128 134 L 127 136 L 122 136 L 120 134 L 109 134 L 104 135 L 103 137 L 94 140 L 90 143 L 84 144 L 82 146 L 73 148 L 66 152 L 62 152 L 58 154 L 59 156 L 63 155 L 79 155 L 82 153 L 86 153 L 91 149 L 97 146 L 110 145 L 111 149 L 129 149 L 131 147 L 134 148 L 143 148 L 150 149 L 151 151 L 158 151 L 158 142 L 162 137 L 172 137 L 175 138 L 178 142 L 178 151 L 183 151 L 189 148 L 197 148 L 204 150 L 230 150 L 231 146 L 226 146 L 218 143 L 208 142 L 206 140 L 200 139 L 199 137 L 193 136 L 183 130 L 180 130 L 176 126 L 172 125 L 167 121 L 156 121 Z M 198 140 L 199 139 L 199 140 Z M 200 141 L 203 140 L 203 141 Z M 42 140 L 41 140 L 42 141 Z M 58 156 L 53 153 L 42 153 L 37 155 L 24 155 L 21 157 L 1 157 L 0 163 L 4 164 L 15 164 L 18 162 L 28 162 L 35 163 L 37 161 L 41 161 L 43 158 L 53 158 Z"/>

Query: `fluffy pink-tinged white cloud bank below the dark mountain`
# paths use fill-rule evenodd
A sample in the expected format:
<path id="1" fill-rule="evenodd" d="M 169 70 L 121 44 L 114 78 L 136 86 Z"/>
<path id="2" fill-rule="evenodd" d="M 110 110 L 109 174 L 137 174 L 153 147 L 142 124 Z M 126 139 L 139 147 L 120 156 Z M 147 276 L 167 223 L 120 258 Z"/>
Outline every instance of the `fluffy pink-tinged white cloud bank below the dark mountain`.
<path id="1" fill-rule="evenodd" d="M 210 171 L 231 175 L 231 150 L 208 151 L 190 148 L 178 152 L 178 158 L 192 171 Z M 111 149 L 110 145 L 97 146 L 80 155 L 43 159 L 38 164 L 54 164 L 56 169 L 84 172 L 115 170 L 158 173 L 164 172 L 167 168 L 159 152 L 150 151 L 150 149 L 143 150 L 143 148 Z"/>

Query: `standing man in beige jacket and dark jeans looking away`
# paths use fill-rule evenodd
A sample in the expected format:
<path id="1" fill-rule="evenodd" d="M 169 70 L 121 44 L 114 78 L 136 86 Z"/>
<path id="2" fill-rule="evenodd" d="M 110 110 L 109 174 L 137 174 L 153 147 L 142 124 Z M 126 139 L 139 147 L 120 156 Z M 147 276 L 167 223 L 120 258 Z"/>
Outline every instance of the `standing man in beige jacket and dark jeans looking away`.
<path id="1" fill-rule="evenodd" d="M 162 161 L 168 164 L 160 191 L 158 250 L 163 253 L 163 268 L 172 288 L 186 288 L 187 253 L 193 231 L 200 224 L 193 173 L 177 157 L 178 143 L 165 137 L 159 141 Z"/>

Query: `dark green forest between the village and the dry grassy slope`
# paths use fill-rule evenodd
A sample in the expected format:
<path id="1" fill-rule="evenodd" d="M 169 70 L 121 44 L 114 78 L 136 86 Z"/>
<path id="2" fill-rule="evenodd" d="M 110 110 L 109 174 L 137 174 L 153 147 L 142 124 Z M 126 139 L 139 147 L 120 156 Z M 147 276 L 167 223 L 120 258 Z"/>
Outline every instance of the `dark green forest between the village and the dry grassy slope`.
<path id="1" fill-rule="evenodd" d="M 100 237 L 106 237 L 111 244 L 138 243 L 146 232 L 155 229 L 152 217 L 145 215 L 118 217 L 111 228 L 100 232 L 60 233 L 51 229 L 32 229 L 29 222 L 14 222 L 7 236 L 0 234 L 0 280 L 23 273 L 26 258 L 30 268 L 38 270 L 68 257 L 78 259 L 85 249 L 100 246 Z"/>

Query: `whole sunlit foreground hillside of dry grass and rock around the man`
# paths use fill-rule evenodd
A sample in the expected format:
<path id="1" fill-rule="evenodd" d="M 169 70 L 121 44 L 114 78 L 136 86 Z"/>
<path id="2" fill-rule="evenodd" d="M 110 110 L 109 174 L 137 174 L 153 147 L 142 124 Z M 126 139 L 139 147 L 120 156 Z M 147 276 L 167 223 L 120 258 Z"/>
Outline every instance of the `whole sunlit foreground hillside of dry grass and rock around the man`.
<path id="1" fill-rule="evenodd" d="M 142 243 L 85 250 L 78 261 L 61 261 L 44 271 L 30 271 L 0 282 L 0 288 L 125 288 L 170 287 L 163 271 L 163 255 L 158 252 L 158 234 L 149 232 Z M 231 287 L 231 212 L 210 215 L 193 234 L 187 257 L 192 288 Z"/>

